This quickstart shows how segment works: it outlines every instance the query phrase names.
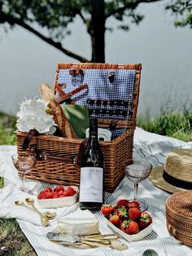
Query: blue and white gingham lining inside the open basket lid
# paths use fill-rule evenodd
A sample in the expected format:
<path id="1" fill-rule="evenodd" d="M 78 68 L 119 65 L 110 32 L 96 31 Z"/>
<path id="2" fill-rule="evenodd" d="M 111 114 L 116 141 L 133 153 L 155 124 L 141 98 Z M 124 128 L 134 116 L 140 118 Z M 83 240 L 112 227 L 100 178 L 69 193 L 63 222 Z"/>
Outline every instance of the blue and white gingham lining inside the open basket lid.
<path id="1" fill-rule="evenodd" d="M 109 73 L 115 73 L 114 82 L 108 79 Z M 58 84 L 65 84 L 66 93 L 76 89 L 85 83 L 89 86 L 89 90 L 82 90 L 72 96 L 76 104 L 87 104 L 87 99 L 100 100 L 122 100 L 127 102 L 127 106 L 118 105 L 92 105 L 88 104 L 89 109 L 106 109 L 106 110 L 123 110 L 128 113 L 123 115 L 107 115 L 93 114 L 97 118 L 110 118 L 117 120 L 129 120 L 132 113 L 133 90 L 135 82 L 136 70 L 129 69 L 85 69 L 84 75 L 70 75 L 69 69 L 59 70 Z"/>

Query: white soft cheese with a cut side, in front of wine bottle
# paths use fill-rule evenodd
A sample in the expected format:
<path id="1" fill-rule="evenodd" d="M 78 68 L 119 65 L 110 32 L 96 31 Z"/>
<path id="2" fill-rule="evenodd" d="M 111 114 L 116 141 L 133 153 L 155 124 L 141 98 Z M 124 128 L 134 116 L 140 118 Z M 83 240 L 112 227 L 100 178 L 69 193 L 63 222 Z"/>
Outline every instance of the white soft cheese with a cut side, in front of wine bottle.
<path id="1" fill-rule="evenodd" d="M 74 235 L 98 234 L 98 220 L 89 210 L 77 210 L 58 220 L 57 232 Z"/>

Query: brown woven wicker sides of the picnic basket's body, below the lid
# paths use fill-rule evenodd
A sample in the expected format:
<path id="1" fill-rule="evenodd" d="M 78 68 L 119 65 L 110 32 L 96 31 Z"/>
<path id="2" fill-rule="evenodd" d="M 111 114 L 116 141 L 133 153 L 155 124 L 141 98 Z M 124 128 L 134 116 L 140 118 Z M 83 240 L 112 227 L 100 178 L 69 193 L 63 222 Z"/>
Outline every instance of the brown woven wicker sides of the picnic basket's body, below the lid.
<path id="1" fill-rule="evenodd" d="M 132 158 L 133 132 L 129 128 L 123 135 L 111 142 L 100 142 L 105 161 L 105 190 L 113 192 L 120 180 L 124 178 L 124 159 Z M 22 145 L 25 133 L 17 132 L 17 150 L 19 155 L 24 154 Z M 37 148 L 57 156 L 76 156 L 81 144 L 81 139 L 66 139 L 47 135 L 33 136 L 31 143 Z M 80 180 L 80 166 L 72 163 L 56 161 L 37 161 L 35 168 L 26 174 L 27 178 L 44 180 L 51 183 L 64 185 L 77 185 Z"/>

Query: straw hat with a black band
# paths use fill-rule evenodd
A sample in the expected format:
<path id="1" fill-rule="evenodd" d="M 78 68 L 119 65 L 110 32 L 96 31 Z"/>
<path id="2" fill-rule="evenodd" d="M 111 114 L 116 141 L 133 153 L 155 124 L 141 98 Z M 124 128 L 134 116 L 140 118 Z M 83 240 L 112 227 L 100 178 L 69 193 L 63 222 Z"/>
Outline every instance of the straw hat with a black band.
<path id="1" fill-rule="evenodd" d="M 192 189 L 192 149 L 173 149 L 165 157 L 164 166 L 153 168 L 151 183 L 167 192 Z"/>

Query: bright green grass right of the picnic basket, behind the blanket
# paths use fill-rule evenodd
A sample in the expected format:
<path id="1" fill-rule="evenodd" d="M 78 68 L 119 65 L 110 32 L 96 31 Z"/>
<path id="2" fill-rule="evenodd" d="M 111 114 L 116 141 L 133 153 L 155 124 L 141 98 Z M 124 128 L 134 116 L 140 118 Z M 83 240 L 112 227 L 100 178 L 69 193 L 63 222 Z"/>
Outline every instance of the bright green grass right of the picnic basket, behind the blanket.
<path id="1" fill-rule="evenodd" d="M 192 112 L 162 113 L 158 118 L 145 120 L 138 117 L 137 126 L 158 135 L 166 135 L 183 141 L 192 141 Z"/>

